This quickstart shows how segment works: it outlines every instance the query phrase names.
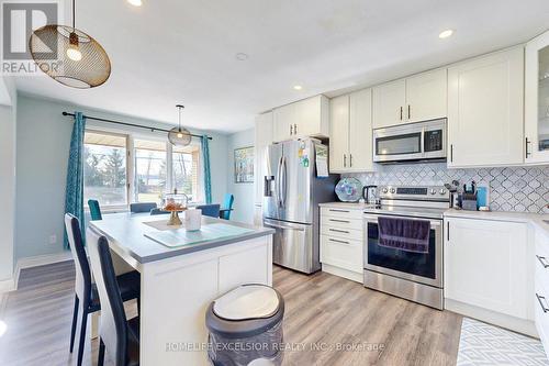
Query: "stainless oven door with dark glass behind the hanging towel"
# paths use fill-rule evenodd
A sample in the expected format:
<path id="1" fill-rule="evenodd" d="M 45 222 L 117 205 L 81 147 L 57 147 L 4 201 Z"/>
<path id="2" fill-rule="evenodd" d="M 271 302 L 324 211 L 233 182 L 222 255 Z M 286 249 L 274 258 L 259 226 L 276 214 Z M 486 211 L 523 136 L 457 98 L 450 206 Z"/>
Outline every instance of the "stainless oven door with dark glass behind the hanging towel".
<path id="1" fill-rule="evenodd" d="M 414 253 L 378 245 L 376 214 L 365 214 L 365 269 L 442 287 L 442 220 L 430 221 L 428 253 Z M 402 217 L 405 219 L 412 219 Z M 421 219 L 426 220 L 426 219 Z"/>

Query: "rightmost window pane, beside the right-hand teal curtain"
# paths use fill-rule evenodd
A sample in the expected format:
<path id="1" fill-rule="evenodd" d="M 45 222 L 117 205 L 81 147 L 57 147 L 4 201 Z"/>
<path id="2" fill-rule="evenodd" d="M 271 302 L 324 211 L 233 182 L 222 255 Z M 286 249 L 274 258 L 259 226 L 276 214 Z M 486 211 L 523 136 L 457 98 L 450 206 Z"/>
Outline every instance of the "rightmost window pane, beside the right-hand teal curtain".
<path id="1" fill-rule="evenodd" d="M 173 188 L 189 196 L 190 201 L 199 200 L 199 148 L 197 146 L 173 146 Z"/>

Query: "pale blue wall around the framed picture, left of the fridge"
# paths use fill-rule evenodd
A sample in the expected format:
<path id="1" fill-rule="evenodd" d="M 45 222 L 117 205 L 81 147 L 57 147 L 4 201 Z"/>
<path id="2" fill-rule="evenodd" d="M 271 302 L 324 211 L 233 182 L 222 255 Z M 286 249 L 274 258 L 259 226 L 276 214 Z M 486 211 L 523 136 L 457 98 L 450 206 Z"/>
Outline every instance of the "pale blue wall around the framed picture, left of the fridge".
<path id="1" fill-rule="evenodd" d="M 234 149 L 254 146 L 254 129 L 237 132 L 228 136 L 228 192 L 235 196 L 231 220 L 254 223 L 254 184 L 235 184 Z"/>

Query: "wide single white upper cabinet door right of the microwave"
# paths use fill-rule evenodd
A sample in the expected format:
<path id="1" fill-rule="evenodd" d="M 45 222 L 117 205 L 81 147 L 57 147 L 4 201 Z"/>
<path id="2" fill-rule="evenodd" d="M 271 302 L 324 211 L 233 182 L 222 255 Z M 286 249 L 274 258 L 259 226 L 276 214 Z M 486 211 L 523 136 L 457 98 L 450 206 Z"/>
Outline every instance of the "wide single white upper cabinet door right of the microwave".
<path id="1" fill-rule="evenodd" d="M 449 167 L 523 163 L 524 48 L 448 69 Z"/>

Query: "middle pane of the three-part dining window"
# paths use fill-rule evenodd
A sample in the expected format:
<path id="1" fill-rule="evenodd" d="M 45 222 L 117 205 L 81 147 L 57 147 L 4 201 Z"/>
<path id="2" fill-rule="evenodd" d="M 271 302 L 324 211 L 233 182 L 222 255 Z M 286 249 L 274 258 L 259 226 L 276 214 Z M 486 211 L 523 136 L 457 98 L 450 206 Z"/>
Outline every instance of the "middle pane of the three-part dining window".
<path id="1" fill-rule="evenodd" d="M 166 143 L 135 140 L 135 201 L 160 203 L 166 191 Z"/>

